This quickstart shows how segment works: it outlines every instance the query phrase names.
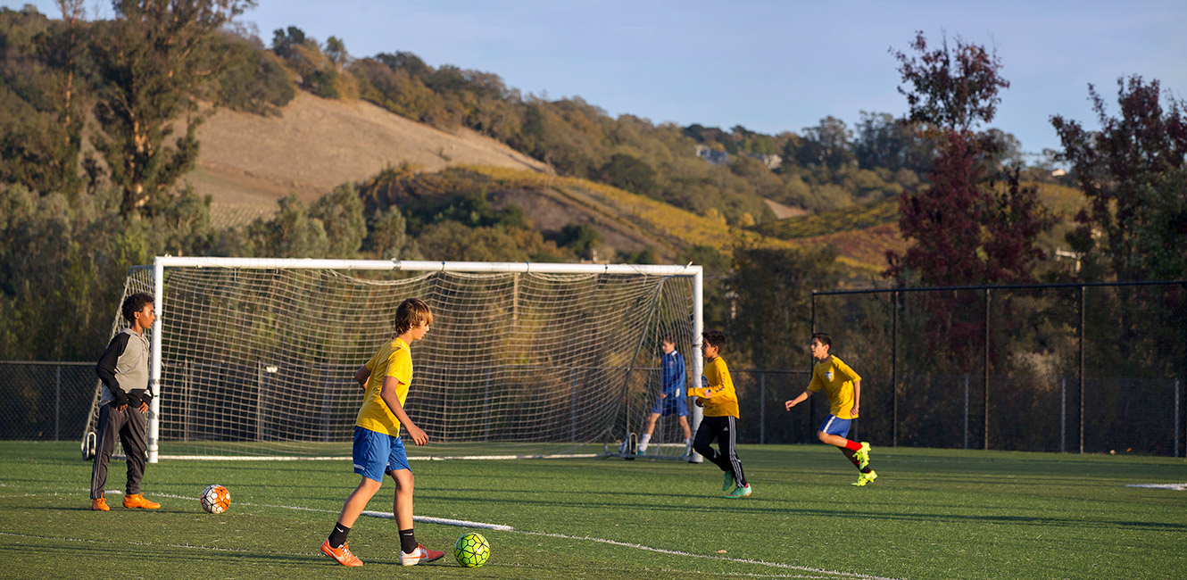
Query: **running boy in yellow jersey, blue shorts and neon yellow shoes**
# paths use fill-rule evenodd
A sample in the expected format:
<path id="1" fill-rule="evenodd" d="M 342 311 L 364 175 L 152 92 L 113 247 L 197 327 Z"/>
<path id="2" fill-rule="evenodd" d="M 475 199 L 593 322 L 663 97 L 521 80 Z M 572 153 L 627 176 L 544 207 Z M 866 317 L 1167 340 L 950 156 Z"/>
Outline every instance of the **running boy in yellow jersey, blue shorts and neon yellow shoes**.
<path id="1" fill-rule="evenodd" d="M 832 339 L 824 332 L 812 334 L 812 343 L 808 345 L 812 357 L 819 361 L 812 368 L 812 382 L 807 390 L 800 396 L 787 401 L 787 410 L 807 400 L 813 393 L 824 389 L 829 396 L 829 418 L 820 423 L 817 436 L 820 442 L 837 446 L 838 450 L 861 472 L 857 482 L 852 485 L 865 485 L 878 478 L 878 474 L 870 469 L 870 444 L 861 444 L 846 439 L 849 426 L 857 419 L 857 410 L 862 400 L 862 377 L 853 369 L 850 369 L 842 359 L 832 356 Z"/>

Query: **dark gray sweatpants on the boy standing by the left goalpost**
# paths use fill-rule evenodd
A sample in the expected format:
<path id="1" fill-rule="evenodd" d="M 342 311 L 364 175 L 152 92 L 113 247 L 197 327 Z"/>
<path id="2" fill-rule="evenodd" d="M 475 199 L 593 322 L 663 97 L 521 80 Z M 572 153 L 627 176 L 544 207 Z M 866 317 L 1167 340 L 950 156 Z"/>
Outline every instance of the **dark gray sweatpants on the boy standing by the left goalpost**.
<path id="1" fill-rule="evenodd" d="M 107 484 L 107 464 L 112 460 L 115 438 L 123 444 L 123 455 L 128 464 L 128 484 L 125 493 L 140 493 L 140 478 L 145 476 L 145 452 L 148 450 L 148 438 L 145 429 L 148 416 L 131 404 L 123 410 L 115 410 L 112 403 L 99 408 L 99 439 L 95 444 L 95 463 L 90 469 L 90 498 L 103 497 Z"/>

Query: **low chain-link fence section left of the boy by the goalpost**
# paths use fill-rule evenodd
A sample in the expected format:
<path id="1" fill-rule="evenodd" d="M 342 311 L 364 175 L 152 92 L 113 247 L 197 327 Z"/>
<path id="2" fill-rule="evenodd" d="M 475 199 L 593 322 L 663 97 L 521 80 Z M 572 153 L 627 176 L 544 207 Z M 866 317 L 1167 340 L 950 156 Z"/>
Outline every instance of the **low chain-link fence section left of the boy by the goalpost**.
<path id="1" fill-rule="evenodd" d="M 0 361 L 0 440 L 82 439 L 95 363 Z"/>

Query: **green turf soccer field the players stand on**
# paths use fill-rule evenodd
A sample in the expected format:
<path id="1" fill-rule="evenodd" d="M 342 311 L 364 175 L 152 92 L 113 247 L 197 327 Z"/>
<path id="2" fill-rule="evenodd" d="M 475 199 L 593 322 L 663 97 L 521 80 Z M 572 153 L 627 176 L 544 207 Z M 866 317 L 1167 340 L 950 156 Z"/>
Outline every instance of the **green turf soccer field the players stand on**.
<path id="1" fill-rule="evenodd" d="M 852 487 L 834 450 L 741 446 L 754 485 L 721 497 L 711 464 L 622 459 L 415 461 L 418 516 L 510 525 L 481 530 L 482 568 L 451 556 L 396 565 L 395 522 L 361 517 L 347 569 L 318 546 L 357 484 L 348 461 L 150 465 L 159 511 L 89 511 L 90 463 L 75 444 L 0 442 L 4 578 L 1187 578 L 1187 461 L 1147 457 L 890 450 Z M 113 461 L 109 489 L 122 491 Z M 229 512 L 196 499 L 227 485 Z M 392 508 L 391 482 L 369 509 Z M 430 548 L 464 530 L 418 523 Z"/>

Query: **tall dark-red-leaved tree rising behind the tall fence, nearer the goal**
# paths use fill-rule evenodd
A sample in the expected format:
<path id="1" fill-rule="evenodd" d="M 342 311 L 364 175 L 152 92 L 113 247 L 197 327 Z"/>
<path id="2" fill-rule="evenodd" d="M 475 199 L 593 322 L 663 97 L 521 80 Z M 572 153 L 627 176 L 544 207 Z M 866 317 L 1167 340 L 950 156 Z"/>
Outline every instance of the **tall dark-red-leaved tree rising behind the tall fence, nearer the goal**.
<path id="1" fill-rule="evenodd" d="M 994 117 L 998 91 L 1010 83 L 998 74 L 1002 62 L 983 46 L 945 39 L 928 49 L 922 32 L 912 49 L 919 56 L 891 52 L 908 88 L 910 121 L 937 142 L 931 184 L 900 197 L 899 229 L 912 246 L 902 255 L 887 253 L 883 273 L 903 282 L 928 286 L 1018 282 L 1043 257 L 1035 246 L 1050 218 L 1034 187 L 1022 187 L 1016 171 L 1005 171 L 1004 186 L 991 181 L 995 140 L 975 128 Z"/>

